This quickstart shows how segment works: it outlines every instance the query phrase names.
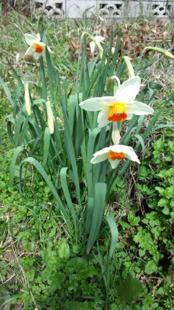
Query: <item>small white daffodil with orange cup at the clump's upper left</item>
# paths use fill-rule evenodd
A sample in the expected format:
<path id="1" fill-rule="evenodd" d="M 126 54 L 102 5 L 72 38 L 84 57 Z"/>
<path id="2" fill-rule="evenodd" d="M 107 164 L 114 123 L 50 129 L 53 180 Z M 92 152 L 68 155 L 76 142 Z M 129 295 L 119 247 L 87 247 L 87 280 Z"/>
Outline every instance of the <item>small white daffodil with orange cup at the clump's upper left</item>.
<path id="1" fill-rule="evenodd" d="M 36 37 L 32 34 L 25 33 L 25 41 L 30 47 L 27 49 L 25 55 L 32 55 L 35 59 L 38 59 L 40 56 L 46 58 L 46 44 L 41 41 L 40 34 L 37 33 Z M 51 53 L 51 49 L 47 47 L 48 51 Z"/>

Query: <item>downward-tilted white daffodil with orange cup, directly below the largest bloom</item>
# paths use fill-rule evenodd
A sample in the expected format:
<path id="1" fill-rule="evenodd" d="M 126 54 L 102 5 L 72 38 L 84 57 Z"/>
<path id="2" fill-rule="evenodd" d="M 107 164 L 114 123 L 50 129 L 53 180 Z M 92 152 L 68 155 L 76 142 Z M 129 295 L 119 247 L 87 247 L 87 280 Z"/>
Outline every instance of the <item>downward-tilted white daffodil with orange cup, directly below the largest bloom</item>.
<path id="1" fill-rule="evenodd" d="M 131 146 L 118 144 L 105 147 L 104 149 L 96 152 L 91 159 L 91 163 L 97 164 L 108 159 L 111 163 L 112 169 L 114 169 L 123 158 L 128 158 L 140 164 L 140 161 Z"/>

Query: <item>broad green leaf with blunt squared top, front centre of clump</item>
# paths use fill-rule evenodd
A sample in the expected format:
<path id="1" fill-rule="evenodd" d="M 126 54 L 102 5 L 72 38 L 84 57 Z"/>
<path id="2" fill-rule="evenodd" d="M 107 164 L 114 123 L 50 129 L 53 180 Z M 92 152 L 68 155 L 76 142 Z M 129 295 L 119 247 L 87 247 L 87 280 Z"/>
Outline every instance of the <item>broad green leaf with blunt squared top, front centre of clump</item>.
<path id="1" fill-rule="evenodd" d="M 95 196 L 94 196 L 94 207 L 93 207 L 93 217 L 89 233 L 89 239 L 87 244 L 87 254 L 89 254 L 93 244 L 95 243 L 103 216 L 103 211 L 105 207 L 106 199 L 106 183 L 96 183 L 95 184 Z"/>

